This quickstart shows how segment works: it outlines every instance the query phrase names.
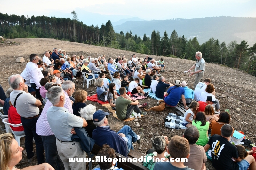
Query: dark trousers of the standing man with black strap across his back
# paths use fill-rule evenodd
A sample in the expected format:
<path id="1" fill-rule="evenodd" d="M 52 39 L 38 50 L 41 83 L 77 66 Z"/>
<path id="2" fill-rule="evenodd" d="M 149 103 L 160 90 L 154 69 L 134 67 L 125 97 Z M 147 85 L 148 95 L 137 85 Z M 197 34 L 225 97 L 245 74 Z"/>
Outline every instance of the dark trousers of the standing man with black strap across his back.
<path id="1" fill-rule="evenodd" d="M 21 117 L 21 123 L 25 132 L 25 148 L 27 151 L 28 159 L 34 156 L 33 153 L 33 137 L 36 143 L 36 155 L 37 163 L 44 163 L 44 146 L 43 141 L 39 135 L 36 133 L 36 122 L 39 119 L 39 116 L 33 119 L 27 119 Z"/>

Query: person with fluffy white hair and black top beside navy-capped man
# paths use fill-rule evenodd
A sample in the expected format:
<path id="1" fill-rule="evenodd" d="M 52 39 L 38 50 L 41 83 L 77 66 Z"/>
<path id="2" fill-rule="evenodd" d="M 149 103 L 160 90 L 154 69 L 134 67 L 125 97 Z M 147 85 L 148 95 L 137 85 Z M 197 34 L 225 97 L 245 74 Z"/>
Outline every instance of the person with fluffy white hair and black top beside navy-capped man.
<path id="1" fill-rule="evenodd" d="M 83 117 L 86 122 L 87 126 L 84 127 L 86 132 L 88 133 L 89 137 L 92 138 L 92 131 L 96 128 L 95 124 L 93 123 L 92 115 L 96 112 L 96 106 L 89 104 L 84 108 L 80 109 L 79 113 L 80 116 Z"/>

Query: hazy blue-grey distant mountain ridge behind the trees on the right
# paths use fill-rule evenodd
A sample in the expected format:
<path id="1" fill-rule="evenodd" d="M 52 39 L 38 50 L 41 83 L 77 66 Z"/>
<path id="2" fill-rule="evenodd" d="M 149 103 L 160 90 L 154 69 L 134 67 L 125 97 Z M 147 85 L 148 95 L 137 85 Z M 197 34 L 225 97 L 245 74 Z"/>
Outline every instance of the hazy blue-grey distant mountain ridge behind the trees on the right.
<path id="1" fill-rule="evenodd" d="M 116 22 L 117 23 L 117 22 Z M 172 20 L 151 20 L 151 21 L 127 21 L 120 25 L 114 25 L 115 32 L 123 31 L 124 34 L 132 31 L 142 38 L 144 33 L 151 37 L 153 30 L 158 30 L 163 36 L 166 30 L 169 37 L 173 30 L 179 36 L 194 38 L 197 37 L 200 44 L 211 37 L 227 44 L 233 40 L 240 42 L 246 40 L 252 46 L 256 42 L 256 18 L 244 17 L 206 17 L 195 19 L 172 19 Z"/>

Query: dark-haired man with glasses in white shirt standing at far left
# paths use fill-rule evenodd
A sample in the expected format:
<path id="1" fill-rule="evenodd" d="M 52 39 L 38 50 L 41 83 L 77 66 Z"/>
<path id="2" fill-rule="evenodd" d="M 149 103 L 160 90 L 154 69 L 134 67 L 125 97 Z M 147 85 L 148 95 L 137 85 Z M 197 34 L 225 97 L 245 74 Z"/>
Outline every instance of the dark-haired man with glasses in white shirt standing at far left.
<path id="1" fill-rule="evenodd" d="M 36 91 L 36 99 L 41 100 L 42 98 L 39 92 L 39 89 L 41 88 L 40 80 L 41 78 L 44 78 L 44 76 L 37 65 L 39 62 L 39 56 L 37 54 L 30 54 L 29 60 L 30 62 L 26 65 L 27 74 L 30 78 L 31 87 Z"/>

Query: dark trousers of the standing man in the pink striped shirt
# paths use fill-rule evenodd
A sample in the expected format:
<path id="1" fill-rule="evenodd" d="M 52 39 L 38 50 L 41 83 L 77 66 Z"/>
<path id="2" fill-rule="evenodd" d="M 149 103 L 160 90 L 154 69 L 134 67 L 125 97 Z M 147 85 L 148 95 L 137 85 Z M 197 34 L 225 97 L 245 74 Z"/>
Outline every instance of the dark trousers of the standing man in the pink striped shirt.
<path id="1" fill-rule="evenodd" d="M 50 164 L 55 170 L 64 169 L 64 164 L 58 155 L 57 146 L 56 146 L 56 137 L 54 135 L 41 136 L 44 151 L 45 151 L 45 162 Z"/>

